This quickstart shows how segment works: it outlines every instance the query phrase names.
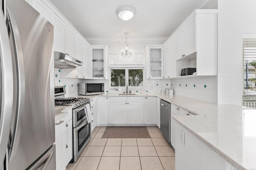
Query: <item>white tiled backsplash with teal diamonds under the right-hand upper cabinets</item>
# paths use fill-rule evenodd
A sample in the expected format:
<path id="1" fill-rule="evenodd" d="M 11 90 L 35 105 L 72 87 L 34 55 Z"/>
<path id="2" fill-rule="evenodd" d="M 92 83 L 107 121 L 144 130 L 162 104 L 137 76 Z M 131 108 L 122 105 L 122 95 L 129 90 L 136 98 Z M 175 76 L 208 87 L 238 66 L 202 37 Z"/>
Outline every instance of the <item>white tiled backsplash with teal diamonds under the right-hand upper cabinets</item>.
<path id="1" fill-rule="evenodd" d="M 174 94 L 217 103 L 217 76 L 174 79 L 170 84 Z"/>

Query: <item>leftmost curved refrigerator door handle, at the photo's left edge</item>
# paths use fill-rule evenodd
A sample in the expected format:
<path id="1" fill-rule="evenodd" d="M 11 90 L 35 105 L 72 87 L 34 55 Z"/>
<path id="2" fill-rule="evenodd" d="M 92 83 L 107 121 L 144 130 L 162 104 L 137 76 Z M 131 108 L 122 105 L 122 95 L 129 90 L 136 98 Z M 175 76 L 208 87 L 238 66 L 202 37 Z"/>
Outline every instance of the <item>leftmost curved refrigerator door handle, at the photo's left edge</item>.
<path id="1" fill-rule="evenodd" d="M 12 53 L 9 43 L 8 31 L 4 14 L 0 12 L 0 90 L 1 113 L 0 113 L 0 167 L 4 162 L 8 139 L 10 135 L 10 125 L 13 101 L 13 72 Z"/>

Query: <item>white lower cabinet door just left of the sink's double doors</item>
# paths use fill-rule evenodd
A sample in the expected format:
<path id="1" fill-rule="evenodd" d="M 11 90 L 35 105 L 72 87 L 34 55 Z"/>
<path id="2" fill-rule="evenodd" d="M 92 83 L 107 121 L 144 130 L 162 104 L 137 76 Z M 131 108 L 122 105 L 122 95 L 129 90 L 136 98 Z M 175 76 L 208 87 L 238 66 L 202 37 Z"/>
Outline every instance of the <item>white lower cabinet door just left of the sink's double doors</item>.
<path id="1" fill-rule="evenodd" d="M 98 97 L 98 124 L 108 124 L 109 97 Z"/>

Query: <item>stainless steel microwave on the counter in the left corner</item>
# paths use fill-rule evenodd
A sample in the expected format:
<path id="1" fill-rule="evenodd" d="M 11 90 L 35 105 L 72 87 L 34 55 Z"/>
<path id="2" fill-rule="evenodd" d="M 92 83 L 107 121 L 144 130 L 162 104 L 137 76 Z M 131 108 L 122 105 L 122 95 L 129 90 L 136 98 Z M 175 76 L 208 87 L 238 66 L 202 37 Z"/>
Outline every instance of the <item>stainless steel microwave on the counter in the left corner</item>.
<path id="1" fill-rule="evenodd" d="M 78 83 L 78 94 L 96 95 L 104 93 L 104 83 Z"/>

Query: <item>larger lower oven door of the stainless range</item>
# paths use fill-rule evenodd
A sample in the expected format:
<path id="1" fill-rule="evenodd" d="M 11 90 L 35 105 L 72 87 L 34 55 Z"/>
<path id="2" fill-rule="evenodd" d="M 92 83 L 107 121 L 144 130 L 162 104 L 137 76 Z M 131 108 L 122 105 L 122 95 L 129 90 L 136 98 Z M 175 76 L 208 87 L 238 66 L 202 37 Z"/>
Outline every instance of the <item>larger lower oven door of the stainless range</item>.
<path id="1" fill-rule="evenodd" d="M 73 151 L 74 156 L 73 160 L 76 162 L 78 157 L 83 152 L 86 145 L 89 143 L 91 139 L 91 128 L 90 123 L 88 123 L 87 119 L 85 119 L 78 127 L 74 128 L 74 141 L 73 141 Z"/>

